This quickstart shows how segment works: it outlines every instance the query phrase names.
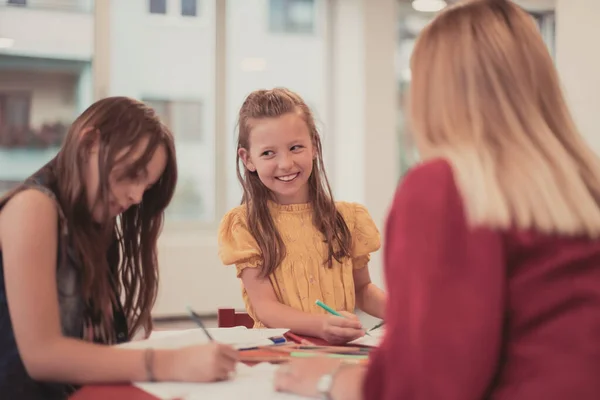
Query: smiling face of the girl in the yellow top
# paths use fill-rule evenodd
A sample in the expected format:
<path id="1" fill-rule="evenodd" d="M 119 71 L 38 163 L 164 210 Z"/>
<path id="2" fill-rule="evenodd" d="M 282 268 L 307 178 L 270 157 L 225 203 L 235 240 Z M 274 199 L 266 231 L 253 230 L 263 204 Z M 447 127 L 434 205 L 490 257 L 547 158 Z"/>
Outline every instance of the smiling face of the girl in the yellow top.
<path id="1" fill-rule="evenodd" d="M 250 121 L 250 148 L 240 148 L 246 168 L 279 204 L 307 203 L 308 179 L 313 170 L 314 146 L 308 126 L 297 113 Z"/>

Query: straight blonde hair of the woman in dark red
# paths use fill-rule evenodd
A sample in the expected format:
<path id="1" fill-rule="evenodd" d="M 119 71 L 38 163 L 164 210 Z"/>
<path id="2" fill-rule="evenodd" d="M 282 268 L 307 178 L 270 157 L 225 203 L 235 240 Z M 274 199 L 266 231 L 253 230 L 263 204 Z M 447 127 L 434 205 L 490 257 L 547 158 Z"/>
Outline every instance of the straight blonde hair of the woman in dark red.
<path id="1" fill-rule="evenodd" d="M 411 68 L 417 146 L 452 165 L 471 225 L 600 234 L 600 160 L 528 13 L 508 0 L 449 7 L 421 33 Z"/>

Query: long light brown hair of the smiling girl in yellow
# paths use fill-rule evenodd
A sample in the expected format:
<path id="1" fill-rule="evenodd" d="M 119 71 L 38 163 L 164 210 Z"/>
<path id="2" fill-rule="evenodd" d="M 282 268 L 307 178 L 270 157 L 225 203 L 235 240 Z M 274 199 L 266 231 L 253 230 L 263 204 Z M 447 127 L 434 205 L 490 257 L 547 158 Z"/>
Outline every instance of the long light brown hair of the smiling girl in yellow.
<path id="1" fill-rule="evenodd" d="M 256 172 L 249 171 L 240 160 L 239 149 L 250 150 L 252 122 L 264 118 L 277 118 L 289 113 L 302 117 L 312 140 L 317 157 L 313 160 L 312 174 L 308 179 L 309 199 L 313 206 L 313 224 L 323 234 L 328 246 L 327 265 L 333 259 L 341 262 L 350 256 L 352 237 L 344 218 L 335 207 L 327 174 L 323 168 L 321 138 L 317 131 L 310 108 L 296 93 L 285 88 L 257 90 L 244 101 L 238 118 L 238 155 L 236 158 L 237 176 L 244 194 L 242 204 L 246 205 L 248 228 L 256 240 L 263 258 L 262 276 L 275 271 L 285 257 L 285 244 L 277 231 L 268 207 L 273 199 L 270 190 L 263 185 Z M 242 172 L 243 170 L 243 172 Z"/>

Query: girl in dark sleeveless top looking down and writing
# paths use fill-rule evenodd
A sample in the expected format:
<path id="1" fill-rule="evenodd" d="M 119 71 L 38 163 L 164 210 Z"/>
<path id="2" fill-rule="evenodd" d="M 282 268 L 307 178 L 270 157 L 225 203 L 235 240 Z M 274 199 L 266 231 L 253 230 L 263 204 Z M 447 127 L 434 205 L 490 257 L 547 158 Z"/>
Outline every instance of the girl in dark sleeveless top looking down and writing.
<path id="1" fill-rule="evenodd" d="M 173 136 L 126 97 L 91 105 L 56 157 L 0 200 L 0 393 L 225 379 L 236 353 L 106 345 L 152 329 L 157 239 L 177 182 Z"/>

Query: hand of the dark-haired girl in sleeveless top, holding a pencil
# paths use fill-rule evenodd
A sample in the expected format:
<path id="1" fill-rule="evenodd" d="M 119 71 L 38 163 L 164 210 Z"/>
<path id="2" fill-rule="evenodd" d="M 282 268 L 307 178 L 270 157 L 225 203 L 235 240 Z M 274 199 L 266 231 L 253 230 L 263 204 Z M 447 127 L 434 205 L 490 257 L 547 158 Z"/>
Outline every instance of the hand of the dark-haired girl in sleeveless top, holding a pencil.
<path id="1" fill-rule="evenodd" d="M 221 381 L 229 379 L 235 372 L 237 360 L 237 350 L 225 344 L 189 346 L 169 351 L 164 358 L 157 357 L 155 373 L 158 380 Z"/>

